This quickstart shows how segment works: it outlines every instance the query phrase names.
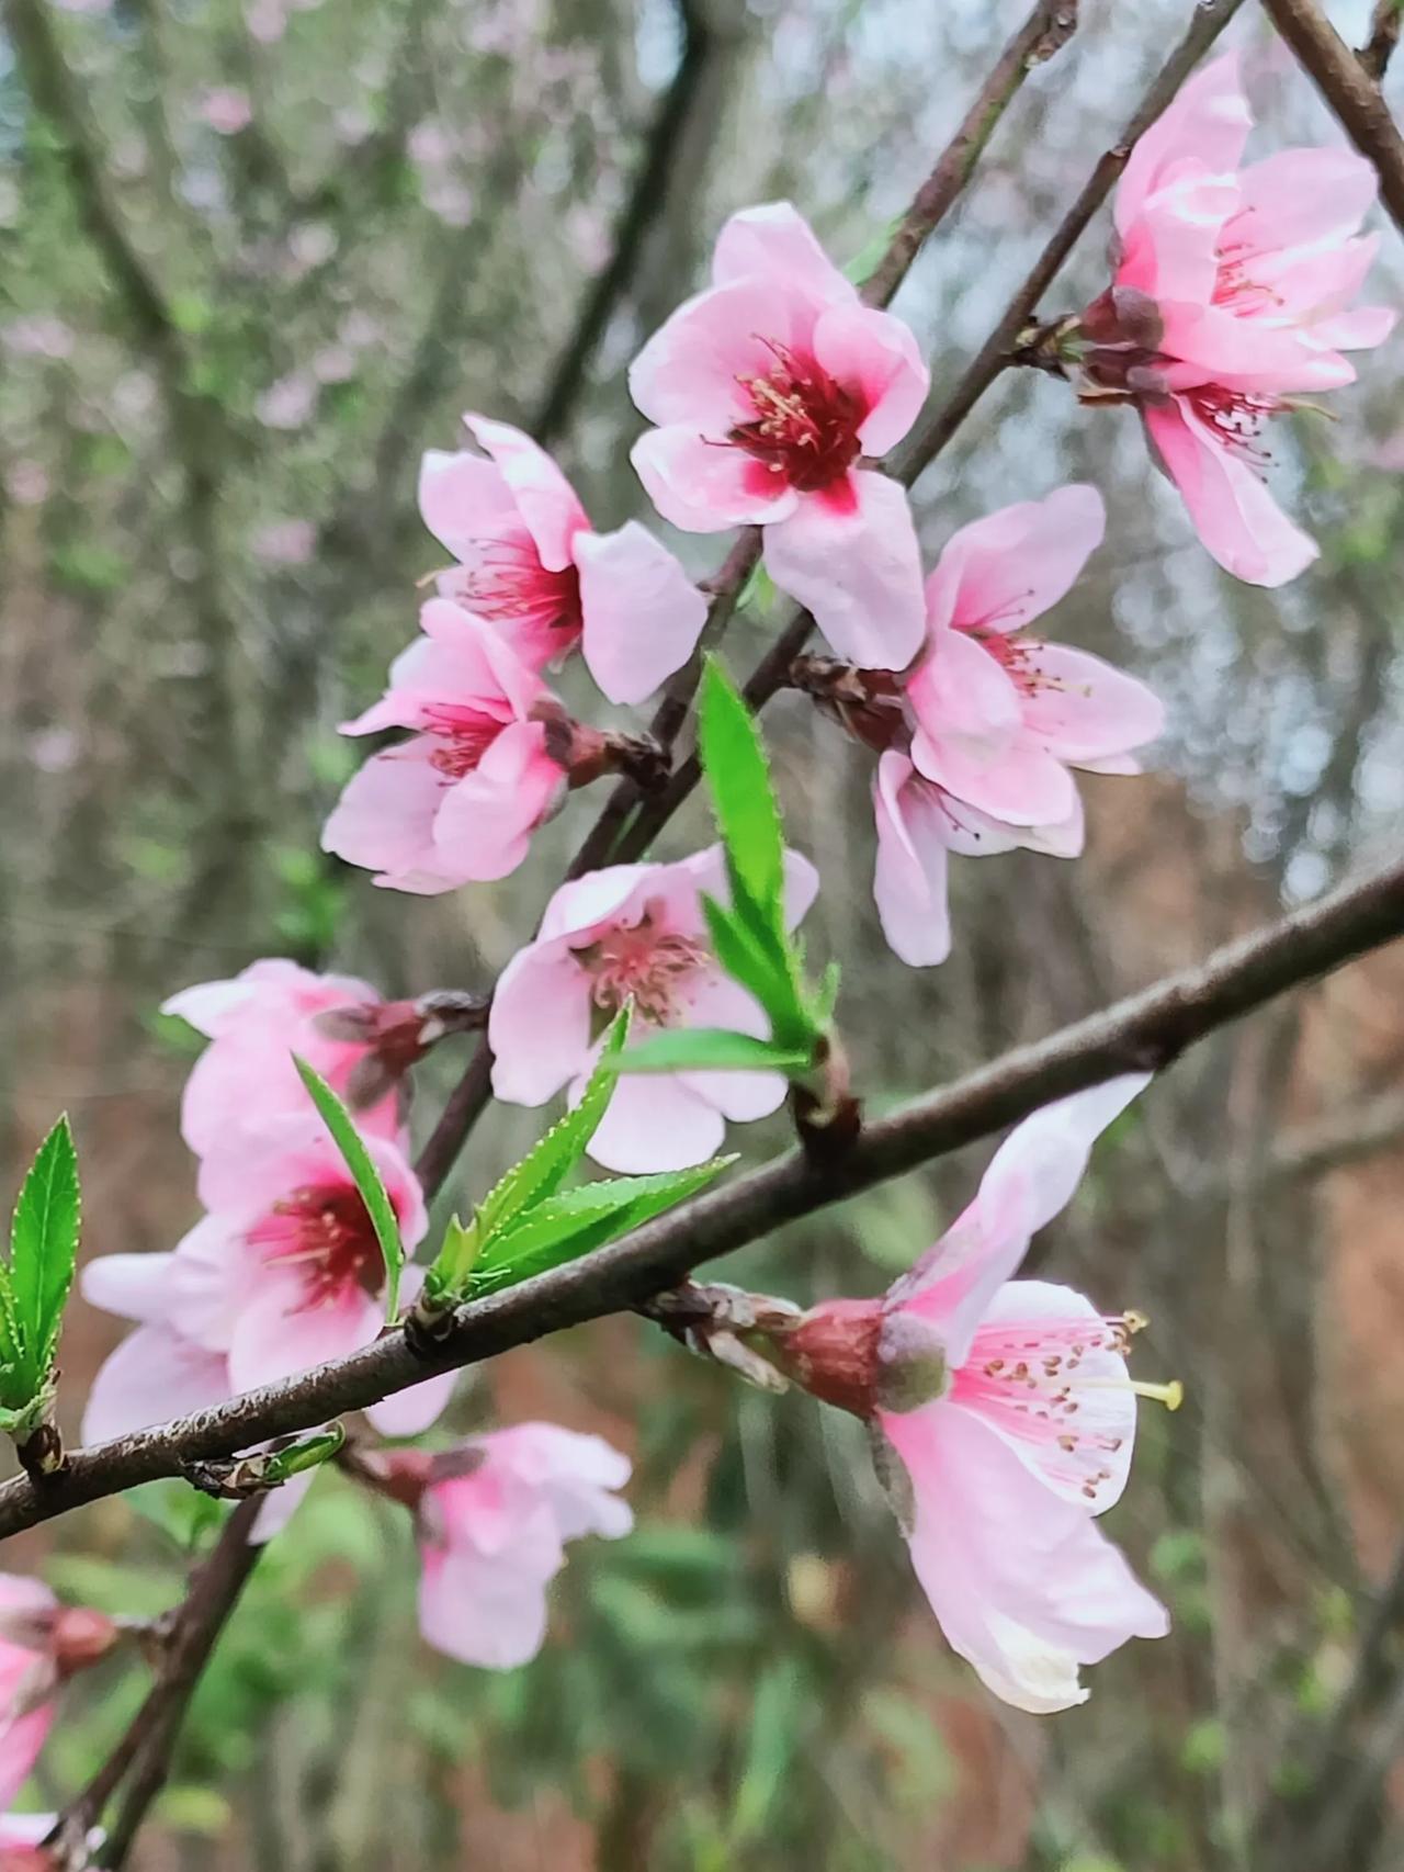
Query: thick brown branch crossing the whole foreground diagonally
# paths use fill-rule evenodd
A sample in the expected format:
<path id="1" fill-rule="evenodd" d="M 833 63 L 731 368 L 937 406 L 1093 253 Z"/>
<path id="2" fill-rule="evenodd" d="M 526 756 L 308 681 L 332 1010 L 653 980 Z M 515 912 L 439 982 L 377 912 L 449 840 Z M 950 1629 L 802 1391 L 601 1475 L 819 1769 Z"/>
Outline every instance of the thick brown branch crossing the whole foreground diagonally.
<path id="1" fill-rule="evenodd" d="M 363 1410 L 434 1372 L 475 1365 L 545 1333 L 635 1307 L 700 1262 L 988 1136 L 1050 1099 L 1116 1073 L 1163 1067 L 1226 1022 L 1398 936 L 1404 936 L 1404 859 L 1217 949 L 1196 968 L 912 1101 L 869 1125 L 831 1164 L 816 1164 L 794 1149 L 623 1241 L 459 1307 L 447 1338 L 425 1355 L 406 1344 L 402 1331 L 388 1331 L 363 1352 L 313 1372 L 168 1425 L 75 1449 L 66 1471 L 43 1490 L 26 1477 L 0 1486 L 0 1537 L 137 1483 L 182 1475 L 193 1460 L 227 1456 Z"/>

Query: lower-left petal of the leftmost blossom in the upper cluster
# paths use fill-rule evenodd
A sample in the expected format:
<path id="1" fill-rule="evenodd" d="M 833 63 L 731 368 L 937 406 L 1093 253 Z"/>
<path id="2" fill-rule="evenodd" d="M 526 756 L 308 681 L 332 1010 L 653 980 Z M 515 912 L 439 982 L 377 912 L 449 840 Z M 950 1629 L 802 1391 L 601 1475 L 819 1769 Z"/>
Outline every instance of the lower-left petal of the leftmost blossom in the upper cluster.
<path id="1" fill-rule="evenodd" d="M 447 867 L 434 842 L 434 820 L 447 796 L 432 766 L 434 743 L 423 736 L 373 754 L 346 782 L 322 827 L 322 850 L 348 865 L 376 870 L 376 884 L 436 895 L 464 884 L 462 867 Z"/>

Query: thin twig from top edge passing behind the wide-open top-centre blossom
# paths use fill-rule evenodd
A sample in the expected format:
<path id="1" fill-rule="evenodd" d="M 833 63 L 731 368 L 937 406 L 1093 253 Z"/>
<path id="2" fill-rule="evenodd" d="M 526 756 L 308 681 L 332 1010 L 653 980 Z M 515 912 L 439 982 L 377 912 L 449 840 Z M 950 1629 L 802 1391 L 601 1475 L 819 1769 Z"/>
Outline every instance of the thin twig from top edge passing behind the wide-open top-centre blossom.
<path id="1" fill-rule="evenodd" d="M 1239 0 L 1234 0 L 1234 4 L 1239 4 Z M 1075 26 L 1076 0 L 1039 0 L 1039 6 L 1033 7 L 1020 30 L 1013 36 L 1013 39 L 1009 39 L 1000 52 L 994 69 L 987 77 L 985 84 L 981 84 L 970 110 L 912 198 L 912 206 L 902 215 L 884 256 L 869 275 L 869 281 L 863 286 L 865 303 L 887 305 L 899 285 L 906 279 L 921 245 L 936 232 L 943 217 L 960 198 L 960 193 L 975 170 L 979 155 L 994 135 L 1000 118 L 1007 110 L 1028 73 L 1065 45 L 1073 36 Z M 741 599 L 741 592 L 745 590 L 745 582 L 760 560 L 760 528 L 743 528 L 721 569 L 711 578 L 711 603 L 708 607 L 708 622 L 702 629 L 700 650 L 713 648 L 726 631 L 726 625 L 730 623 Z M 769 683 L 771 670 L 777 672 L 775 681 L 769 687 L 764 687 L 760 700 L 766 700 L 779 687 L 792 655 L 803 648 L 809 631 L 809 618 L 801 612 L 797 616 L 797 623 L 792 623 L 784 631 L 781 638 L 782 648 L 773 650 L 762 665 L 764 674 L 758 672 L 762 687 Z M 777 663 L 777 657 L 782 657 L 782 661 Z M 653 717 L 651 732 L 668 751 L 674 747 L 674 741 L 687 721 L 700 674 L 702 661 L 698 655 L 668 683 L 668 691 Z M 753 685 L 747 687 L 747 696 L 753 706 L 760 706 L 754 693 L 754 680 Z M 642 856 L 642 852 L 646 852 L 651 844 L 655 833 L 666 826 L 681 801 L 696 786 L 698 777 L 696 758 L 689 756 L 661 794 L 640 807 L 640 812 L 635 824 L 629 826 L 627 833 L 625 826 L 629 822 L 629 814 L 640 805 L 640 794 L 631 781 L 620 781 L 605 801 L 605 807 L 601 809 L 599 818 L 584 839 L 580 850 L 575 854 L 565 872 L 567 880 L 578 878 L 586 870 L 595 870 L 599 865 L 607 865 L 612 859 L 627 861 Z M 425 1144 L 419 1159 L 419 1174 L 431 1194 L 447 1177 L 468 1138 L 468 1133 L 477 1123 L 477 1118 L 483 1114 L 492 1095 L 489 1080 L 490 1065 L 492 1060 L 487 1048 L 487 1039 L 483 1039 L 468 1063 L 464 1076 L 455 1088 L 449 1104 L 440 1114 L 432 1136 Z"/>

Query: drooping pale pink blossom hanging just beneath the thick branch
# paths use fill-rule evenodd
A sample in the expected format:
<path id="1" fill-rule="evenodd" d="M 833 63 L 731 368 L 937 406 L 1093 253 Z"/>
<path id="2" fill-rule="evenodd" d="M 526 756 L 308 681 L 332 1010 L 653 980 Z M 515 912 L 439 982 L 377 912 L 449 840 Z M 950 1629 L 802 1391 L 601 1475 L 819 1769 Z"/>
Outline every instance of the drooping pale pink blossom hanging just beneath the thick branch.
<path id="1" fill-rule="evenodd" d="M 416 1507 L 427 1642 L 489 1670 L 534 1659 L 565 1543 L 618 1541 L 633 1528 L 629 1505 L 610 1494 L 627 1481 L 618 1449 L 550 1423 L 492 1430 L 429 1458 Z"/>

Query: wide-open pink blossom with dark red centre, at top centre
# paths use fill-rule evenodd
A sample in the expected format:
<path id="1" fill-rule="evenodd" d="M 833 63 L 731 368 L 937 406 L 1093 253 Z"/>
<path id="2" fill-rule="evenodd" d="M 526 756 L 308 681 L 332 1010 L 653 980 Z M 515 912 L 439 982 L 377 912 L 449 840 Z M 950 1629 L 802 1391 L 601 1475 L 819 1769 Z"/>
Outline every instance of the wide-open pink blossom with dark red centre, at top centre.
<path id="1" fill-rule="evenodd" d="M 661 427 L 633 451 L 659 513 L 695 534 L 766 528 L 766 567 L 833 648 L 902 668 L 921 644 L 921 558 L 902 489 L 859 466 L 915 421 L 929 373 L 865 307 L 788 202 L 732 215 L 711 286 L 629 373 Z"/>

